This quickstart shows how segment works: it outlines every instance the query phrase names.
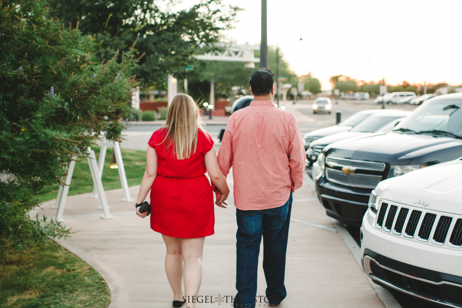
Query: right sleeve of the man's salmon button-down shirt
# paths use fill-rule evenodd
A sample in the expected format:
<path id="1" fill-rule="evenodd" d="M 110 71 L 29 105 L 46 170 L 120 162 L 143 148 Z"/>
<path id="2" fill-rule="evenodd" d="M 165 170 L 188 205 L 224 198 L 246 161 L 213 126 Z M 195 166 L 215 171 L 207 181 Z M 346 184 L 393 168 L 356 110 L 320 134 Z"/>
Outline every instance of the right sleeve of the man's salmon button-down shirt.
<path id="1" fill-rule="evenodd" d="M 292 193 L 302 187 L 305 176 L 305 160 L 307 154 L 303 145 L 302 134 L 300 128 L 295 121 L 291 121 L 290 142 L 289 142 L 289 168 Z"/>

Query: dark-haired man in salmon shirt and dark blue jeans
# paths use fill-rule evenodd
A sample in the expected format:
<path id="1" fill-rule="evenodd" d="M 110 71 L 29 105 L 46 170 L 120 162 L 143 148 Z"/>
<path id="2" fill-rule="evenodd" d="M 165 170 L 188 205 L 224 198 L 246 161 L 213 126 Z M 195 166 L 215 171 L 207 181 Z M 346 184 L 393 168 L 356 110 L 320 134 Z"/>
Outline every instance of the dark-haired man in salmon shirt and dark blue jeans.
<path id="1" fill-rule="evenodd" d="M 250 77 L 254 100 L 234 112 L 218 151 L 226 175 L 232 166 L 236 206 L 237 271 L 234 307 L 255 307 L 263 236 L 265 303 L 286 297 L 284 274 L 292 193 L 303 184 L 305 149 L 295 117 L 272 102 L 274 75 L 262 68 Z"/>

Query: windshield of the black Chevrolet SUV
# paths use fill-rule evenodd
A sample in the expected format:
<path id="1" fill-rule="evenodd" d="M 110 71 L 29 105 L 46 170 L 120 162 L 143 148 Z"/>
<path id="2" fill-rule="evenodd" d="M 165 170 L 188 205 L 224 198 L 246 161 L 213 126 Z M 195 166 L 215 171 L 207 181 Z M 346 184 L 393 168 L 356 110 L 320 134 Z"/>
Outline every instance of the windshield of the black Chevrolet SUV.
<path id="1" fill-rule="evenodd" d="M 414 131 L 423 134 L 447 133 L 462 136 L 462 100 L 433 100 L 417 108 L 396 126 L 394 131 Z"/>

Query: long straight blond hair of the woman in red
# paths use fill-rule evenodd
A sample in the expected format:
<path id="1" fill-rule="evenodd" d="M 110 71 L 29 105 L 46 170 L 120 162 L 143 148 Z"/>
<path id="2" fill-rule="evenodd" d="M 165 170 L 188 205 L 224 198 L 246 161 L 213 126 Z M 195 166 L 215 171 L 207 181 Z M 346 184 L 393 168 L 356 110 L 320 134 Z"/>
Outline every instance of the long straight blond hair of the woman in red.
<path id="1" fill-rule="evenodd" d="M 173 97 L 167 112 L 167 135 L 169 147 L 173 145 L 177 159 L 186 159 L 196 153 L 197 133 L 202 131 L 209 139 L 204 130 L 204 122 L 200 117 L 199 107 L 193 98 L 187 94 L 179 93 Z"/>

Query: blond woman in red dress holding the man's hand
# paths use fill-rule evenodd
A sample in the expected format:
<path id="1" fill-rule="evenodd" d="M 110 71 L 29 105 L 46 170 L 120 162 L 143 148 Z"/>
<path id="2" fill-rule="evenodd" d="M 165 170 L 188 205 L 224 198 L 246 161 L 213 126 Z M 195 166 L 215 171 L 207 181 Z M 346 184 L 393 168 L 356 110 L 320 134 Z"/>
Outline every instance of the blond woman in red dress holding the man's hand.
<path id="1" fill-rule="evenodd" d="M 225 192 L 216 200 L 218 206 L 224 207 L 230 192 L 212 138 L 203 127 L 193 98 L 186 94 L 173 97 L 165 127 L 155 131 L 148 142 L 146 171 L 136 199 L 141 204 L 151 190 L 151 229 L 162 233 L 167 247 L 165 270 L 173 290 L 173 307 L 185 302 L 188 308 L 195 307 L 205 236 L 214 233 L 213 192 L 205 173 L 213 186 Z M 136 214 L 147 216 L 138 208 Z"/>

